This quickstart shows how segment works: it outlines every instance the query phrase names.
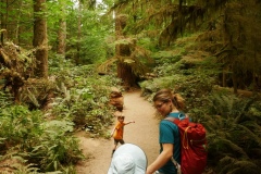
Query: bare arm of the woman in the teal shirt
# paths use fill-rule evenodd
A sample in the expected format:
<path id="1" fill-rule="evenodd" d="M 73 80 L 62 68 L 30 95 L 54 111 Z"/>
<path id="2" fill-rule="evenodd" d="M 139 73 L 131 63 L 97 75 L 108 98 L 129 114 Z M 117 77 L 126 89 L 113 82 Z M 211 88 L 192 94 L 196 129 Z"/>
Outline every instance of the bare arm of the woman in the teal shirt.
<path id="1" fill-rule="evenodd" d="M 156 161 L 147 167 L 146 174 L 153 174 L 157 170 L 162 167 L 173 156 L 173 144 L 162 144 L 163 151 L 156 159 Z"/>

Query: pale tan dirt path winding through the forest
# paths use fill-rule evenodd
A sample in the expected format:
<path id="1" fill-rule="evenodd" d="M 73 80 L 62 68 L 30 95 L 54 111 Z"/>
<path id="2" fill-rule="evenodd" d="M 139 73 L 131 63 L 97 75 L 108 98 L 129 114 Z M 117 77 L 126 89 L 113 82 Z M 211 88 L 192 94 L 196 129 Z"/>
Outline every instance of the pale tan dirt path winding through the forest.
<path id="1" fill-rule="evenodd" d="M 154 117 L 154 109 L 140 97 L 140 91 L 132 91 L 124 94 L 123 113 L 126 122 L 132 120 L 136 122 L 125 126 L 125 142 L 138 145 L 146 152 L 150 164 L 159 153 L 158 120 Z M 78 134 L 84 154 L 89 159 L 76 166 L 77 174 L 107 174 L 113 139 L 90 139 L 85 136 L 84 132 Z"/>

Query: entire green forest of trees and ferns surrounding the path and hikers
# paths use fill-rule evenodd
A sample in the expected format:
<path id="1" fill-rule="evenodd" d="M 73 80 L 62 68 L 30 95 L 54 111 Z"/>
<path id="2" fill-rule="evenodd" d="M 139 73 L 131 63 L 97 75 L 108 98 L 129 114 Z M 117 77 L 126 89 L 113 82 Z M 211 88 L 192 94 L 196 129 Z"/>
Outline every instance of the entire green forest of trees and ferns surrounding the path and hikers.
<path id="1" fill-rule="evenodd" d="M 41 2 L 0 1 L 0 166 L 74 173 L 75 132 L 105 137 L 111 87 L 132 82 L 149 100 L 161 88 L 186 99 L 208 129 L 207 173 L 261 173 L 259 0 Z M 44 49 L 49 76 L 37 78 Z"/>

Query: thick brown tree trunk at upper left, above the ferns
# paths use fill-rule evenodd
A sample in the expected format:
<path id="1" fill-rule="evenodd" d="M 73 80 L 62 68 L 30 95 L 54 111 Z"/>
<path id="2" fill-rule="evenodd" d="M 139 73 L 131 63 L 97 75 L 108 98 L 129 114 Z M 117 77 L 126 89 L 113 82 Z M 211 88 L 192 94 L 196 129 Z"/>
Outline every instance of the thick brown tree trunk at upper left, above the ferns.
<path id="1" fill-rule="evenodd" d="M 34 0 L 34 40 L 37 60 L 35 75 L 47 78 L 48 76 L 48 42 L 46 22 L 46 0 Z"/>

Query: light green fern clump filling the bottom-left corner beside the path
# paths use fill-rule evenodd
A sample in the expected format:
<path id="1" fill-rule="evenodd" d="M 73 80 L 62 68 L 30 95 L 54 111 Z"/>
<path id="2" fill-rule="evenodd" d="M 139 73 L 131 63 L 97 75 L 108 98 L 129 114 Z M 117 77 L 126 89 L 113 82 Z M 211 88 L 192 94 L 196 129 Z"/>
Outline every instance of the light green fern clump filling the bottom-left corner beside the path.
<path id="1" fill-rule="evenodd" d="M 30 164 L 38 172 L 59 171 L 84 158 L 72 136 L 72 122 L 48 121 L 40 111 L 23 105 L 1 108 L 0 115 L 1 164 L 7 169 L 20 171 Z"/>

